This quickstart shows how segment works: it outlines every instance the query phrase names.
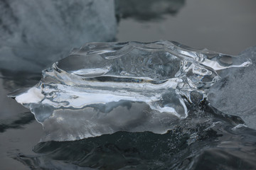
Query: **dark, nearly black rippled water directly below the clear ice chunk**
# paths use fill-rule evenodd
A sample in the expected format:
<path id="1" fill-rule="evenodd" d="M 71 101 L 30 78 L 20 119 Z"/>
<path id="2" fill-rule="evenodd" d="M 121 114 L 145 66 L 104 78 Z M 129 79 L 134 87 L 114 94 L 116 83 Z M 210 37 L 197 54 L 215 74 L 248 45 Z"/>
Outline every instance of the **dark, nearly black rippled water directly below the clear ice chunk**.
<path id="1" fill-rule="evenodd" d="M 193 110 L 193 109 L 191 109 Z M 205 105 L 164 135 L 116 132 L 74 142 L 41 142 L 14 159 L 41 169 L 254 169 L 256 131 Z M 33 168 L 32 168 L 33 169 Z"/>

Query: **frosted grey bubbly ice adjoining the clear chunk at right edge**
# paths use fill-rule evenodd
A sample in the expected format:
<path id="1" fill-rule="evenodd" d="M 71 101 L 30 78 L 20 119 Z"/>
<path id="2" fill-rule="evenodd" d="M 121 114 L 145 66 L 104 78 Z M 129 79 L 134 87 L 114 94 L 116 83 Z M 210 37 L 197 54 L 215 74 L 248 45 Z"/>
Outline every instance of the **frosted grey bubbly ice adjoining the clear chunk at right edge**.
<path id="1" fill-rule="evenodd" d="M 223 71 L 223 79 L 210 88 L 208 100 L 218 110 L 238 115 L 245 125 L 256 129 L 256 47 L 242 52 L 240 58 L 250 58 L 252 65 Z"/>

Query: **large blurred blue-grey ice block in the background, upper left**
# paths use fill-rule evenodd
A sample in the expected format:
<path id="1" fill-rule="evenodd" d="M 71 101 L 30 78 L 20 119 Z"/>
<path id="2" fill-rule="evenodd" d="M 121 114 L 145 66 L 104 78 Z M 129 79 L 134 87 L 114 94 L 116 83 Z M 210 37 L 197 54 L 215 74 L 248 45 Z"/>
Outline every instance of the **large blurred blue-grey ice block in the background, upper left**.
<path id="1" fill-rule="evenodd" d="M 116 30 L 113 0 L 2 0 L 0 69 L 41 72 L 73 47 L 113 40 Z"/>

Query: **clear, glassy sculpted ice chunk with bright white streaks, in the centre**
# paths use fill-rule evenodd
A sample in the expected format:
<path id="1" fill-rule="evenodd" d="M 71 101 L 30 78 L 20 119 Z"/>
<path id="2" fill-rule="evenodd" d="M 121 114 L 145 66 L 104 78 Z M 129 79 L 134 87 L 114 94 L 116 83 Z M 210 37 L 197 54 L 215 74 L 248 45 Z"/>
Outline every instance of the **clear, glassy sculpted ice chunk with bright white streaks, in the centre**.
<path id="1" fill-rule="evenodd" d="M 42 123 L 43 140 L 78 140 L 120 130 L 164 133 L 175 120 L 186 118 L 191 96 L 207 97 L 220 78 L 216 71 L 250 64 L 233 59 L 164 40 L 87 43 L 15 96 Z"/>

